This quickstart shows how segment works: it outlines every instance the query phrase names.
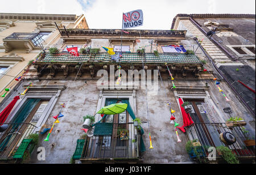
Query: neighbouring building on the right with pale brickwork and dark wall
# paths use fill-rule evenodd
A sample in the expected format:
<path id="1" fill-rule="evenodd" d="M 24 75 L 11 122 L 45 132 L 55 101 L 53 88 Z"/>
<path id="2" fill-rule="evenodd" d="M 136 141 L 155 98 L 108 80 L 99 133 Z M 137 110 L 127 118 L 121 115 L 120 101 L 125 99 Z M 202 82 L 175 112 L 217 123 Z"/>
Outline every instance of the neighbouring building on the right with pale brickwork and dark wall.
<path id="1" fill-rule="evenodd" d="M 255 15 L 178 14 L 171 29 L 203 39 L 201 45 L 255 119 Z M 216 34 L 207 37 L 207 32 Z M 210 37 L 210 40 L 209 40 Z M 255 126 L 255 123 L 251 123 Z"/>

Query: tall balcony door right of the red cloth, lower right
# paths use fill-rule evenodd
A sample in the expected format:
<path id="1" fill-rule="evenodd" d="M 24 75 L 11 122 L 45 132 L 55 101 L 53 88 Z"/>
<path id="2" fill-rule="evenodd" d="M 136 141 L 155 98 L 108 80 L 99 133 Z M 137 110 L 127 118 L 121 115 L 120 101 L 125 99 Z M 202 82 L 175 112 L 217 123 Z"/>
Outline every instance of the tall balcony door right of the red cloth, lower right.
<path id="1" fill-rule="evenodd" d="M 200 143 L 203 146 L 221 146 L 219 139 L 220 131 L 214 126 L 212 120 L 209 118 L 207 105 L 203 100 L 184 100 L 189 102 L 192 110 L 190 116 L 195 122 L 194 126 L 196 133 L 199 136 Z"/>

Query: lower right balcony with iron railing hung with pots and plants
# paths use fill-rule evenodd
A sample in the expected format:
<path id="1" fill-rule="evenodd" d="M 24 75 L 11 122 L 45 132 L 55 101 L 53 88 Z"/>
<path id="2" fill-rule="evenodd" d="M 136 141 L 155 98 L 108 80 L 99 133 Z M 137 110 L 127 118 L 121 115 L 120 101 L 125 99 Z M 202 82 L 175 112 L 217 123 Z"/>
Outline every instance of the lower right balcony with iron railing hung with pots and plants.
<path id="1" fill-rule="evenodd" d="M 191 126 L 185 127 L 188 140 L 197 140 L 196 144 L 200 147 L 201 157 L 207 157 L 209 147 L 226 146 L 240 161 L 255 159 L 255 145 L 246 146 L 247 134 L 241 126 L 227 127 L 226 123 L 193 123 Z M 224 144 L 220 139 L 220 134 L 229 132 L 236 138 L 233 144 Z M 255 141 L 254 141 L 255 142 Z M 210 151 L 211 152 L 211 151 Z M 222 160 L 222 155 L 218 155 L 217 160 Z M 195 160 L 195 156 L 191 156 Z"/>

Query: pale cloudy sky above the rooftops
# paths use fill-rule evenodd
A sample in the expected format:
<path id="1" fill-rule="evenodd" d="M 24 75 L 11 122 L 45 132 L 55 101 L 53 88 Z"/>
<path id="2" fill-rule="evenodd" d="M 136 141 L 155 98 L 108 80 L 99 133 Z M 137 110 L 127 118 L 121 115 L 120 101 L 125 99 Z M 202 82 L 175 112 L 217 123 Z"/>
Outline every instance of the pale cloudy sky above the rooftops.
<path id="1" fill-rule="evenodd" d="M 176 14 L 255 14 L 255 0 L 0 0 L 1 12 L 84 14 L 91 29 L 121 29 L 122 13 L 141 9 L 143 25 L 171 28 Z M 3 5 L 4 4 L 4 5 Z"/>

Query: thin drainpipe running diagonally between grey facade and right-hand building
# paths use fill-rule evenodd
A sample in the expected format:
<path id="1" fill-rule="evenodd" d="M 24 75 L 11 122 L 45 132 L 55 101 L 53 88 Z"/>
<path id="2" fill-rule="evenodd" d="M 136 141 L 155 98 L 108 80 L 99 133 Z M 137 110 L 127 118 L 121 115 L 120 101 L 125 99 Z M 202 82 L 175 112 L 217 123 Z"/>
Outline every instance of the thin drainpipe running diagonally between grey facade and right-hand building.
<path id="1" fill-rule="evenodd" d="M 217 70 L 217 72 L 222 76 L 222 78 L 229 84 L 229 86 L 232 88 L 232 90 L 236 93 L 236 95 L 240 98 L 240 100 L 242 101 L 242 103 L 246 106 L 246 108 L 250 111 L 251 114 L 253 114 L 253 117 L 255 118 L 255 114 L 253 112 L 253 110 L 251 110 L 250 106 L 247 105 L 247 103 L 245 102 L 245 100 L 243 100 L 243 98 L 241 97 L 241 95 L 236 91 L 236 89 L 232 86 L 231 83 L 229 83 L 229 81 L 225 78 L 225 76 L 222 74 L 221 70 L 218 69 L 218 67 L 213 63 L 212 58 L 210 58 L 207 53 L 205 53 L 205 50 L 203 48 L 203 46 L 201 46 L 201 44 L 199 43 L 199 41 L 197 40 L 197 37 L 194 37 L 193 40 L 195 40 L 197 42 L 197 44 L 199 45 L 199 47 L 201 48 L 201 50 L 203 51 L 203 53 L 205 54 L 205 56 L 209 59 L 209 61 L 212 63 L 212 65 L 214 66 L 214 68 Z"/>

